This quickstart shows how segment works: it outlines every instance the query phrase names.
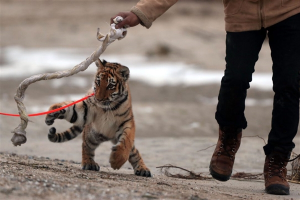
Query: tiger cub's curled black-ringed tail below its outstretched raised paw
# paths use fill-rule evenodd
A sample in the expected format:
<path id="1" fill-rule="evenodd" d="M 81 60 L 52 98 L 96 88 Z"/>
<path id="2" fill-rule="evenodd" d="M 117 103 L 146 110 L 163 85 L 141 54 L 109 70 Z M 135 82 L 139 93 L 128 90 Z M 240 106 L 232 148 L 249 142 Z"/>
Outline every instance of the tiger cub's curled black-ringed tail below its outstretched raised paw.
<path id="1" fill-rule="evenodd" d="M 52 142 L 64 142 L 71 140 L 82 132 L 82 128 L 76 125 L 68 128 L 64 132 L 56 133 L 56 128 L 51 127 L 48 132 L 48 139 Z"/>

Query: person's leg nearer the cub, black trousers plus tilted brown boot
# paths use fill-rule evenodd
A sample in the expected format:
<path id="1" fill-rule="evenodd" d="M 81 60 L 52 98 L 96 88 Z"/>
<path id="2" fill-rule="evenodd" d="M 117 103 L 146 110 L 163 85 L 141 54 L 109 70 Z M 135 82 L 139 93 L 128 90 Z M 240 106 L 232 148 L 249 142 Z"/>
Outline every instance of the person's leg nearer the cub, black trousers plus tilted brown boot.
<path id="1" fill-rule="evenodd" d="M 227 32 L 226 69 L 215 113 L 219 137 L 209 165 L 210 174 L 217 180 L 226 181 L 231 176 L 241 130 L 247 126 L 244 116 L 246 90 L 265 36 L 265 29 Z"/>

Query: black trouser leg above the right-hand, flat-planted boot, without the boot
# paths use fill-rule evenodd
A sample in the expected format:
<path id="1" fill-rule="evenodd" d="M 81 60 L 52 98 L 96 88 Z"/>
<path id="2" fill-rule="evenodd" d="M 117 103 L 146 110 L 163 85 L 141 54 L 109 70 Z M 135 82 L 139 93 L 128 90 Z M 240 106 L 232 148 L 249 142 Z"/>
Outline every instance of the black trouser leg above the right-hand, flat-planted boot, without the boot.
<path id="1" fill-rule="evenodd" d="M 300 13 L 268 28 L 273 61 L 274 102 L 266 154 L 274 147 L 294 148 L 299 123 Z"/>

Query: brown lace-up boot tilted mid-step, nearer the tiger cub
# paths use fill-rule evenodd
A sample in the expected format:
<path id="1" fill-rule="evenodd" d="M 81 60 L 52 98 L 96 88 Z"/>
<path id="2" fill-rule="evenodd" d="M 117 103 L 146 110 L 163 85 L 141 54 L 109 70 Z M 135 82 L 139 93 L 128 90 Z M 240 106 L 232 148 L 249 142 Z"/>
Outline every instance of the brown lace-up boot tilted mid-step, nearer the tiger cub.
<path id="1" fill-rule="evenodd" d="M 241 128 L 219 128 L 219 137 L 209 165 L 210 174 L 215 179 L 227 181 L 230 178 L 241 132 Z"/>

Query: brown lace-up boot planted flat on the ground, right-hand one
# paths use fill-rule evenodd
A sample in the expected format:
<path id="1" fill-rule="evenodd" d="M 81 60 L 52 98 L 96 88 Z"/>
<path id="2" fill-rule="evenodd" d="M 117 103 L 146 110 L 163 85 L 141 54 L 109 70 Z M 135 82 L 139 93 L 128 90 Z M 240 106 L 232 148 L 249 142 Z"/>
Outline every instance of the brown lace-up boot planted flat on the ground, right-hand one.
<path id="1" fill-rule="evenodd" d="M 269 194 L 289 194 L 289 184 L 286 181 L 286 165 L 289 156 L 272 152 L 265 157 L 263 166 L 265 192 Z"/>

